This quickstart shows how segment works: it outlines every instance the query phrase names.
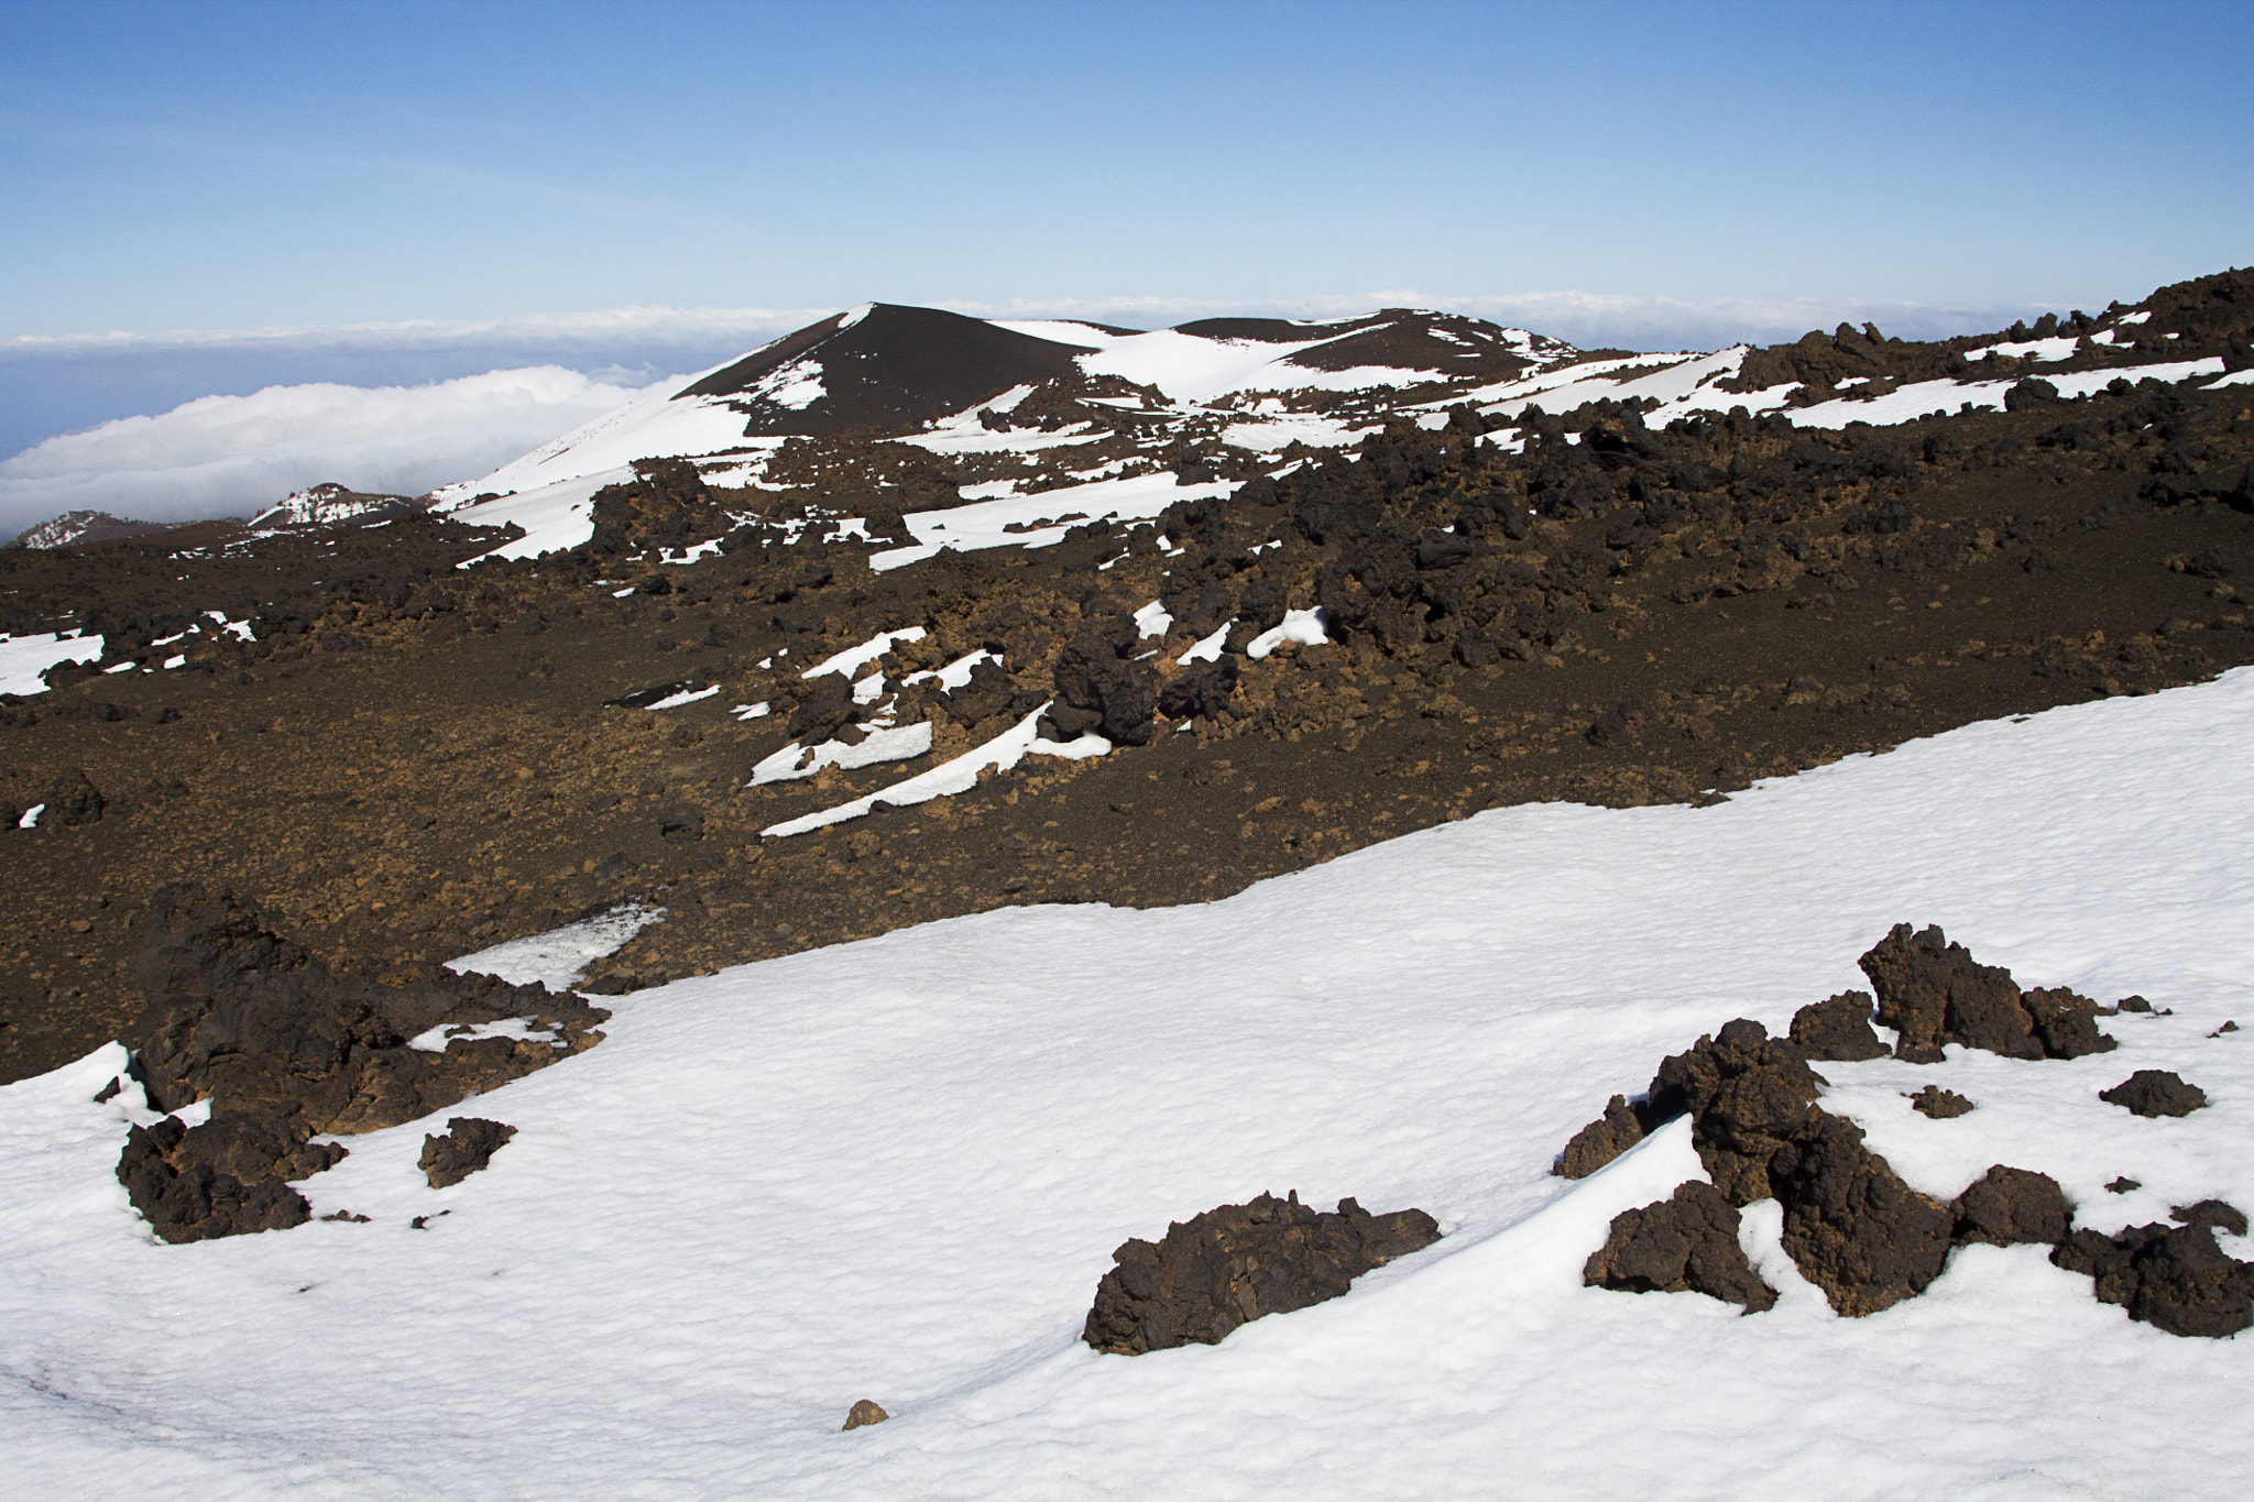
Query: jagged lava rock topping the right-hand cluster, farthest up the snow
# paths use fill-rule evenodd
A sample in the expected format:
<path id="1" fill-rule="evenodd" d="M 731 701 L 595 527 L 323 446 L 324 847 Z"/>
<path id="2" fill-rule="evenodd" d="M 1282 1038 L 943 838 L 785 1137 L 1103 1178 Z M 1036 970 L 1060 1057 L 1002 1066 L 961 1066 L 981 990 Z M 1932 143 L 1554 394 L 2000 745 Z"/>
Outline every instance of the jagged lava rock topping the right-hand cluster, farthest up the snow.
<path id="1" fill-rule="evenodd" d="M 2096 1002 L 2058 989 L 2035 991 L 2029 1007 L 2011 971 L 1975 962 L 1941 928 L 1896 923 L 1860 964 L 1878 991 L 1880 1025 L 1900 1034 L 1896 1058 L 1938 1063 L 1943 1043 L 2006 1058 L 2080 1058 L 2114 1047 L 2096 1027 Z"/>

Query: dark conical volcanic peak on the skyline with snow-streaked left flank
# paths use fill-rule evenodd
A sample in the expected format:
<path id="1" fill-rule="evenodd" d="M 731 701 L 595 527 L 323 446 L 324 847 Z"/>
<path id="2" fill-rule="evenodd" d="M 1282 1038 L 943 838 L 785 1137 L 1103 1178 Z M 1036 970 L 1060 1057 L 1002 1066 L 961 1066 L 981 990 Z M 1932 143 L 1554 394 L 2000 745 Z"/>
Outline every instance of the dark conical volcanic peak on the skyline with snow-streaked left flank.
<path id="1" fill-rule="evenodd" d="M 1093 347 L 877 302 L 784 336 L 681 396 L 730 396 L 748 417 L 746 437 L 899 430 L 1014 385 L 1077 376 L 1073 356 Z"/>

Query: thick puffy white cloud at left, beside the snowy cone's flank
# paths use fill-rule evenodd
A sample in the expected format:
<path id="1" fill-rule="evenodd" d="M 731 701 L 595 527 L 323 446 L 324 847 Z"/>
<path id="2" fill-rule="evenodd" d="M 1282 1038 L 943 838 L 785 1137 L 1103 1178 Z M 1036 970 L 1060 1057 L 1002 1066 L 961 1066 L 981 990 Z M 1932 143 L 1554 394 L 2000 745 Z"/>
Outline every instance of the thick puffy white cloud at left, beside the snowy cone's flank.
<path id="1" fill-rule="evenodd" d="M 246 516 L 338 480 L 419 495 L 602 417 L 636 392 L 554 365 L 435 385 L 270 385 L 34 444 L 0 462 L 0 529 L 63 511 Z"/>

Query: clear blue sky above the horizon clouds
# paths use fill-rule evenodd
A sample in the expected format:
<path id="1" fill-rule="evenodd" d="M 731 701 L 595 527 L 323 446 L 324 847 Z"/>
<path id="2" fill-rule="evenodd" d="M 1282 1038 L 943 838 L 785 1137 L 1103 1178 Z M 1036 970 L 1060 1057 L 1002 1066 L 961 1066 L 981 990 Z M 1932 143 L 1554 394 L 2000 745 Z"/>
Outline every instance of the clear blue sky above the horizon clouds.
<path id="1" fill-rule="evenodd" d="M 2254 5 L 0 5 L 0 338 L 2254 261 Z"/>

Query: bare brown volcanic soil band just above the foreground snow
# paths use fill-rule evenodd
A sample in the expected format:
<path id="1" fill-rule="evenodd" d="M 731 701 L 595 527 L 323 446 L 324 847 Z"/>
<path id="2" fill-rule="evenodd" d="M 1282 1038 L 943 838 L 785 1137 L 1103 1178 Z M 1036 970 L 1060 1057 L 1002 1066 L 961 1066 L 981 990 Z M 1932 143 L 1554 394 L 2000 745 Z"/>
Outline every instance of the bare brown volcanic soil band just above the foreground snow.
<path id="1" fill-rule="evenodd" d="M 651 898 L 669 919 L 597 966 L 624 989 L 1010 903 L 1204 901 L 1479 808 L 1702 799 L 2198 682 L 2254 662 L 2231 574 L 2254 565 L 2249 396 L 2144 387 L 1846 435 L 1645 435 L 1585 410 L 1535 419 L 1524 457 L 1476 421 L 1402 423 L 1352 471 L 1170 513 L 1174 556 L 1159 529 L 1095 525 L 875 574 L 861 547 L 746 534 L 658 570 L 633 554 L 645 513 L 615 552 L 462 574 L 494 534 L 428 518 L 223 556 L 5 554 L 14 631 L 99 608 L 115 649 L 203 608 L 264 619 L 255 646 L 0 707 L 0 802 L 81 770 L 106 799 L 0 831 L 0 1079 L 131 1022 L 126 917 L 167 880 L 232 883 L 318 955 L 399 973 Z M 663 594 L 615 594 L 660 574 Z M 1343 642 L 1240 660 L 1226 707 L 1150 745 L 760 838 L 922 766 L 744 788 L 807 687 L 757 667 L 778 649 L 807 664 L 926 624 L 888 673 L 996 644 L 1012 689 L 1046 698 L 1066 642 L 1159 594 L 1168 662 L 1215 613 L 1316 599 Z M 604 707 L 681 680 L 724 694 Z M 778 712 L 728 716 L 757 700 Z M 902 705 L 922 714 L 944 754 L 1008 723 L 1005 703 Z"/>

